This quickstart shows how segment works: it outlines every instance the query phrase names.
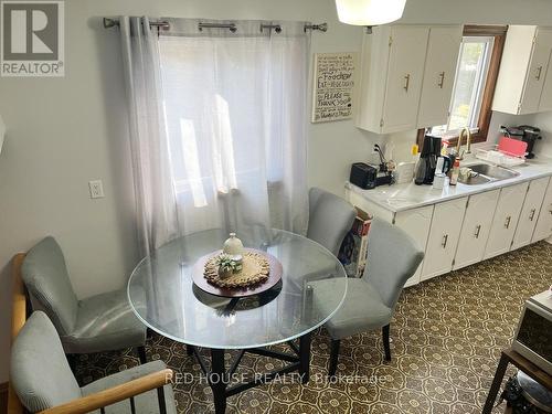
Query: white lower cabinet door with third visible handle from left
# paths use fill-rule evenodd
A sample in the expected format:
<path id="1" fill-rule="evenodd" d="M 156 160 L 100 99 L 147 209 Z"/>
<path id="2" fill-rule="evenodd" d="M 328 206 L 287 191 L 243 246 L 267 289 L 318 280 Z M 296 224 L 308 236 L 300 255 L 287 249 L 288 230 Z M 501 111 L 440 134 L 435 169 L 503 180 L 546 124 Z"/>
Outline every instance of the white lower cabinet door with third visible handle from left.
<path id="1" fill-rule="evenodd" d="M 528 185 L 529 183 L 523 182 L 500 190 L 484 258 L 495 257 L 510 250 Z"/>

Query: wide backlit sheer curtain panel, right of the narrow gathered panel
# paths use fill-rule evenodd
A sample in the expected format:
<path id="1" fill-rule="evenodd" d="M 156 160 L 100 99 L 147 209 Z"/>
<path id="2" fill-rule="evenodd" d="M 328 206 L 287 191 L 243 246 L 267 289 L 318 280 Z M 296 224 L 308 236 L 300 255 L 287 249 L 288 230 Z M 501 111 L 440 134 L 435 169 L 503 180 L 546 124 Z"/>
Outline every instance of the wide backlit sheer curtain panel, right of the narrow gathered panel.
<path id="1" fill-rule="evenodd" d="M 251 23 L 235 35 L 160 36 L 171 170 L 187 232 L 296 226 L 306 201 L 308 44 L 299 24 L 282 35 Z"/>

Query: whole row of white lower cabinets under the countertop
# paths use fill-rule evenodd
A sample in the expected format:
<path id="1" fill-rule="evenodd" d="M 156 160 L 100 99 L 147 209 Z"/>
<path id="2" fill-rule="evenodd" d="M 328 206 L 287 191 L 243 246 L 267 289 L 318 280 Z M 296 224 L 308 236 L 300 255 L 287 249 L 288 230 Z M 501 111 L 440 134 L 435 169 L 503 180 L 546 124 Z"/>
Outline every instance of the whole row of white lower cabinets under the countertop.
<path id="1" fill-rule="evenodd" d="M 393 212 L 347 191 L 349 201 L 404 230 L 425 252 L 405 286 L 552 236 L 552 178 Z"/>

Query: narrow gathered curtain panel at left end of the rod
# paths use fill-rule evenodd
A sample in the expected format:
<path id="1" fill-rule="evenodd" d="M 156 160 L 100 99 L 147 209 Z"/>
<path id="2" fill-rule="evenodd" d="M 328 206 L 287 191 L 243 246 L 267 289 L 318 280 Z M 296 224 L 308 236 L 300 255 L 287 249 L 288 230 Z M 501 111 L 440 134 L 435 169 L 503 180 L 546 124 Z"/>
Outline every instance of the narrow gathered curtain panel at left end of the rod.
<path id="1" fill-rule="evenodd" d="M 140 251 L 180 232 L 164 123 L 159 44 L 147 18 L 120 18 L 120 43 Z"/>

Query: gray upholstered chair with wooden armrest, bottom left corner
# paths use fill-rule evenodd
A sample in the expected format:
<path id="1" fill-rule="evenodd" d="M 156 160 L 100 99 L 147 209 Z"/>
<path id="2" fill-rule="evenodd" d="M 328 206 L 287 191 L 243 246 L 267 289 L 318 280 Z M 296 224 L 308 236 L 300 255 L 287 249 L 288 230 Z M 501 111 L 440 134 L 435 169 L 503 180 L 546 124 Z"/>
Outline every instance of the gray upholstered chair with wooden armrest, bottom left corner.
<path id="1" fill-rule="evenodd" d="M 176 414 L 171 378 L 172 371 L 155 361 L 79 388 L 42 311 L 31 315 L 11 348 L 10 386 L 31 413 L 99 413 L 105 407 L 105 414 L 123 414 L 134 413 L 134 404 L 137 413 Z"/>

